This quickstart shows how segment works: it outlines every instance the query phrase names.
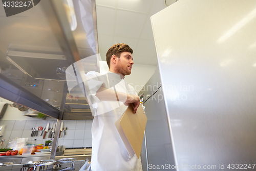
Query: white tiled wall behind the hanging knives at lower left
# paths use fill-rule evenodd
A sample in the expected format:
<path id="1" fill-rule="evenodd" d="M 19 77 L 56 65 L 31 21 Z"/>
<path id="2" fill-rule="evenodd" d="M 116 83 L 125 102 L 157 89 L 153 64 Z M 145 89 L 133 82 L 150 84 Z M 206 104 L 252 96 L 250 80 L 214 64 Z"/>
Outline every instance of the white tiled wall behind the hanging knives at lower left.
<path id="1" fill-rule="evenodd" d="M 3 137 L 0 137 L 5 139 L 5 142 L 0 148 L 6 148 L 8 141 L 15 138 L 29 138 L 29 143 L 33 143 L 36 139 L 36 144 L 45 144 L 45 141 L 49 140 L 48 134 L 46 139 L 42 139 L 41 131 L 38 131 L 37 137 L 31 137 L 31 129 L 34 126 L 45 127 L 48 122 L 50 127 L 56 123 L 53 120 L 0 120 L 0 125 L 6 126 Z M 67 127 L 66 136 L 62 137 L 64 134 L 62 131 L 58 140 L 58 145 L 63 145 L 63 149 L 92 146 L 92 120 L 63 120 L 63 126 Z"/>

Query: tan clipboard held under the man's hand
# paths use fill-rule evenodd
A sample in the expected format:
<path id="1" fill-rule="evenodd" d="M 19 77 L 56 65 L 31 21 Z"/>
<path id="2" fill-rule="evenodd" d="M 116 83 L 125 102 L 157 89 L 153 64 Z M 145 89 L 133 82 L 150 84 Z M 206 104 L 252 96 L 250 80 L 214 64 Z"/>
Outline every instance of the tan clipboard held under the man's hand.
<path id="1" fill-rule="evenodd" d="M 131 158 L 140 157 L 141 146 L 146 128 L 146 115 L 140 104 L 136 113 L 130 104 L 123 115 L 115 122 L 116 128 Z"/>

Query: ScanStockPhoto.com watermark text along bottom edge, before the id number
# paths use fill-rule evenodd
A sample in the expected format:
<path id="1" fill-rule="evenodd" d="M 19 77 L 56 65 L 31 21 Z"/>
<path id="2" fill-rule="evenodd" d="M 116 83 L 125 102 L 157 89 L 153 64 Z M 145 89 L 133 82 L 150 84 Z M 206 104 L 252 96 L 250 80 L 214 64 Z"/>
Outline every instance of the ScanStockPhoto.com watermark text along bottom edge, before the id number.
<path id="1" fill-rule="evenodd" d="M 188 164 L 181 164 L 181 165 L 171 165 L 171 164 L 164 164 L 164 165 L 153 165 L 148 164 L 148 169 L 217 169 L 216 165 L 188 165 Z"/>

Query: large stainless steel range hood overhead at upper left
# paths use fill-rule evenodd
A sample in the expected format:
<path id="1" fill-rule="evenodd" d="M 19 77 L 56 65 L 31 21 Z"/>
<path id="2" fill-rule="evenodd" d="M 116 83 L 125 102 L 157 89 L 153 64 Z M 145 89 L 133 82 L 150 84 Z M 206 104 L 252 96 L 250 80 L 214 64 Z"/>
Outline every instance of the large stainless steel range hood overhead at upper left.
<path id="1" fill-rule="evenodd" d="M 20 98 L 26 99 L 23 105 L 55 118 L 61 108 L 88 110 L 86 97 L 80 93 L 78 100 L 65 107 L 69 96 L 65 69 L 98 53 L 94 0 L 44 0 L 9 17 L 1 6 L 0 23 L 0 97 L 19 104 L 23 103 Z M 87 65 L 86 72 L 99 71 L 98 59 Z"/>

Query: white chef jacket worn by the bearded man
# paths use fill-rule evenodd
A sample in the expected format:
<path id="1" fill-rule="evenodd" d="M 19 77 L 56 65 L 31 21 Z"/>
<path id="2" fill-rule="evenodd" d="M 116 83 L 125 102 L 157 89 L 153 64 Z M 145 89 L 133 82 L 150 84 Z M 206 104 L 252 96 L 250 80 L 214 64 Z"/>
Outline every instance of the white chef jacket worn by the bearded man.
<path id="1" fill-rule="evenodd" d="M 115 122 L 126 110 L 122 102 L 100 101 L 96 92 L 101 85 L 111 87 L 118 92 L 136 94 L 134 88 L 128 85 L 120 75 L 108 72 L 103 75 L 98 72 L 86 74 L 89 87 L 89 98 L 92 99 L 95 110 L 92 124 L 92 171 L 131 171 L 141 170 L 140 158 L 130 157 L 125 145 L 116 129 Z"/>

